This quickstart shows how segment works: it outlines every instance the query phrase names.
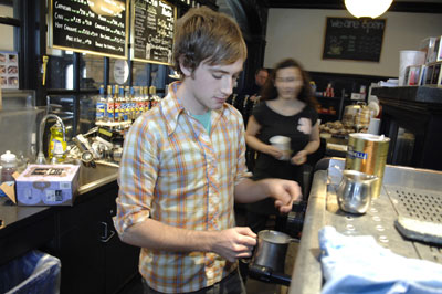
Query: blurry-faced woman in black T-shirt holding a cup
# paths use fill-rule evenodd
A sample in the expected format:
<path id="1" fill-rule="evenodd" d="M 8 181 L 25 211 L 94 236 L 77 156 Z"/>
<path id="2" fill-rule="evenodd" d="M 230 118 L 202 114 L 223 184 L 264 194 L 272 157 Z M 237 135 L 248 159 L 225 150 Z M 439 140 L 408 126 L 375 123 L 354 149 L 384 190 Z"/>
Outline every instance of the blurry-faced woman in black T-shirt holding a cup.
<path id="1" fill-rule="evenodd" d="M 245 132 L 246 144 L 257 151 L 253 179 L 291 179 L 302 186 L 302 166 L 320 143 L 316 101 L 302 65 L 292 59 L 276 64 L 261 101 Z M 248 224 L 259 232 L 270 214 L 277 214 L 271 199 L 249 204 Z"/>

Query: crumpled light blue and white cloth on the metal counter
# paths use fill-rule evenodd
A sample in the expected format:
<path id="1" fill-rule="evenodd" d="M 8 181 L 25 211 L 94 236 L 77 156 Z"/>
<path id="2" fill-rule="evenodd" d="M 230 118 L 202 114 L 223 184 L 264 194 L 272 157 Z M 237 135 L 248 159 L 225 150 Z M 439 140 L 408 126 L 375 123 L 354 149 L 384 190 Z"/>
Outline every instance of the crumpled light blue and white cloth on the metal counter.
<path id="1" fill-rule="evenodd" d="M 392 253 L 371 235 L 347 237 L 327 225 L 319 245 L 323 294 L 442 294 L 442 264 Z"/>

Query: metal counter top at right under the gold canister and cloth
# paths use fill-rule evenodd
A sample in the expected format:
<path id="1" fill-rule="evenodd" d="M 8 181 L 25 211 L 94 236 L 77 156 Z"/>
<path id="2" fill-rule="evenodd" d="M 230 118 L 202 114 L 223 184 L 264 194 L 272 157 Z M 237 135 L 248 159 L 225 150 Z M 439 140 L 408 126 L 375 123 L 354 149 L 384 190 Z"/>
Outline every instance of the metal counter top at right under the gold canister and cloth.
<path id="1" fill-rule="evenodd" d="M 328 167 L 344 169 L 344 159 L 329 159 Z M 414 259 L 442 263 L 442 246 L 408 241 L 394 228 L 398 216 L 442 223 L 442 172 L 398 166 L 387 166 L 381 195 L 372 199 L 366 214 L 356 216 L 339 210 L 336 188 L 340 174 L 335 168 L 314 175 L 303 235 L 290 293 L 320 293 L 323 275 L 318 231 L 333 225 L 345 235 L 372 235 L 392 252 Z"/>

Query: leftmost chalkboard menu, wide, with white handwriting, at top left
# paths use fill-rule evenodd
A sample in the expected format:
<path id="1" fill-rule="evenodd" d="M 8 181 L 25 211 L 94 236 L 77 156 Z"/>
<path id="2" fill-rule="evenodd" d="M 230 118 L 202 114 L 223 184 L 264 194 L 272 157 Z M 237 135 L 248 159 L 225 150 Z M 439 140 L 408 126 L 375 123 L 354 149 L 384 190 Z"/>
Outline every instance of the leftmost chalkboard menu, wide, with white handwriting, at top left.
<path id="1" fill-rule="evenodd" d="M 88 0 L 52 0 L 50 46 L 114 57 L 127 57 L 127 3 L 110 0 L 123 11 L 95 13 Z"/>

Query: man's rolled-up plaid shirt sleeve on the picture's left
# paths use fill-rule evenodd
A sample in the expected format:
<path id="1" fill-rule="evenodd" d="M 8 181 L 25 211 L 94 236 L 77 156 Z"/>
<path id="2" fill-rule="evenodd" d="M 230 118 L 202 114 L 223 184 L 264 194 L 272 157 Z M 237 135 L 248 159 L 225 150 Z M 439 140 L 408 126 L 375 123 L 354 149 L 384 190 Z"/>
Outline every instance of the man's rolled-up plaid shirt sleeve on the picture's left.
<path id="1" fill-rule="evenodd" d="M 140 117 L 125 138 L 118 170 L 117 213 L 114 217 L 114 225 L 119 235 L 150 216 L 158 175 L 157 144 L 151 134 L 146 120 Z"/>

